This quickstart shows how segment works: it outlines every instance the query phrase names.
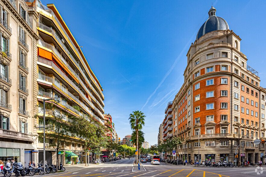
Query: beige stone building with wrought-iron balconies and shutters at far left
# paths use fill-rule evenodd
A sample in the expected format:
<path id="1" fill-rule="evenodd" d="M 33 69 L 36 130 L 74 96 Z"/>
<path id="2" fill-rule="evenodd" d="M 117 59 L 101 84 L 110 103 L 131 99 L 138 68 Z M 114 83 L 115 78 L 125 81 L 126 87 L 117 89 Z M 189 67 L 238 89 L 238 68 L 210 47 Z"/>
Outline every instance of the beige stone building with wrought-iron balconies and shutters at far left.
<path id="1" fill-rule="evenodd" d="M 24 0 L 0 1 L 0 160 L 37 161 L 37 12 Z"/>

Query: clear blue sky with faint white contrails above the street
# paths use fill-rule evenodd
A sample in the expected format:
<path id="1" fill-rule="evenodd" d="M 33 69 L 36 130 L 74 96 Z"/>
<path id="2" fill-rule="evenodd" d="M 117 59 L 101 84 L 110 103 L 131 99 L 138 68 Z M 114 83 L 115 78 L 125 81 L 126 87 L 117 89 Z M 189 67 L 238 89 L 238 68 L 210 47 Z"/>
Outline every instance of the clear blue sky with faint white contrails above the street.
<path id="1" fill-rule="evenodd" d="M 80 3 L 81 2 L 81 3 Z M 105 113 L 112 115 L 121 139 L 131 134 L 128 117 L 141 110 L 143 132 L 157 143 L 164 109 L 184 82 L 186 54 L 211 4 L 242 39 L 248 65 L 266 87 L 266 1 L 70 1 L 54 3 L 99 79 Z"/>

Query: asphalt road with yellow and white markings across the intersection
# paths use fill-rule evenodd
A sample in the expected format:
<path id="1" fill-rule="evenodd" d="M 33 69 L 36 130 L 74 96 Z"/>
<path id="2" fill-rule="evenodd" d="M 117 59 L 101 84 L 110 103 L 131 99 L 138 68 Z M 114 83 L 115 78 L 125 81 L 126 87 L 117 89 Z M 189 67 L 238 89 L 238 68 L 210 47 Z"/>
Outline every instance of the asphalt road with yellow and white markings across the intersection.
<path id="1" fill-rule="evenodd" d="M 135 160 L 135 159 L 134 159 Z M 143 163 L 141 169 L 133 166 L 134 160 L 116 160 L 105 164 L 93 165 L 89 167 L 71 166 L 66 167 L 66 173 L 51 174 L 51 177 L 87 177 L 87 176 L 106 176 L 106 177 L 120 177 L 120 176 L 140 176 L 140 177 L 154 177 L 154 176 L 179 176 L 179 177 L 238 177 L 238 176 L 266 176 L 266 167 L 257 169 L 255 167 L 248 168 L 222 168 L 222 167 L 195 167 L 184 165 L 171 165 L 161 163 L 160 165 L 151 165 L 150 162 Z M 40 175 L 38 175 L 40 176 Z"/>

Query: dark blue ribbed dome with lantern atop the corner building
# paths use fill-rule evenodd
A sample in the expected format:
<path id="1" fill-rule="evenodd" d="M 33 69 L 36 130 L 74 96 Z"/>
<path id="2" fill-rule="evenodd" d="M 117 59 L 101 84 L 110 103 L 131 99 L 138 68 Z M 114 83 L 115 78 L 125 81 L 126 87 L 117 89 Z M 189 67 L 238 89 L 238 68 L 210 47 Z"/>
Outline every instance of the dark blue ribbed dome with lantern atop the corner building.
<path id="1" fill-rule="evenodd" d="M 205 21 L 205 23 L 203 23 L 201 28 L 198 30 L 196 39 L 199 39 L 201 36 L 211 31 L 229 30 L 227 22 L 223 18 L 216 16 L 216 9 L 213 6 L 211 6 L 208 15 L 209 18 L 207 21 Z"/>

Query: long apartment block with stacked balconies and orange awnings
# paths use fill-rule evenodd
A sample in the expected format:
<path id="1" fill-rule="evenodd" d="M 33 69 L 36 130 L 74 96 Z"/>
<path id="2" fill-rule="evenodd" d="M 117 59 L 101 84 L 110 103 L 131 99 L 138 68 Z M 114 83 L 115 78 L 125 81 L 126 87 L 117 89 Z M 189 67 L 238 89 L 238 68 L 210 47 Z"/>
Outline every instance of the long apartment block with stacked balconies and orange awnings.
<path id="1" fill-rule="evenodd" d="M 36 75 L 36 105 L 38 105 L 37 125 L 43 125 L 43 99 L 55 105 L 56 113 L 67 119 L 69 116 L 91 116 L 104 124 L 104 96 L 100 82 L 91 70 L 84 54 L 66 23 L 53 4 L 43 5 L 39 0 L 26 0 L 36 13 L 33 27 L 37 30 L 36 64 L 32 65 Z M 23 78 L 21 85 L 24 84 Z M 23 87 L 22 87 L 23 90 Z M 52 110 L 46 109 L 52 116 Z M 50 125 L 46 125 L 47 128 Z M 51 131 L 52 132 L 52 131 Z M 37 130 L 43 134 L 41 129 Z M 49 135 L 49 134 L 48 134 Z M 55 163 L 55 150 L 47 144 L 46 160 Z M 38 138 L 39 161 L 43 160 L 43 140 Z M 60 161 L 70 163 L 85 155 L 83 145 L 77 138 L 65 142 L 65 150 L 60 152 Z M 90 158 L 91 159 L 91 158 Z"/>

